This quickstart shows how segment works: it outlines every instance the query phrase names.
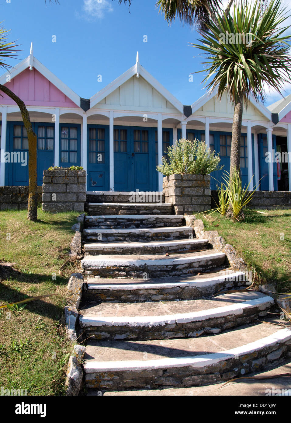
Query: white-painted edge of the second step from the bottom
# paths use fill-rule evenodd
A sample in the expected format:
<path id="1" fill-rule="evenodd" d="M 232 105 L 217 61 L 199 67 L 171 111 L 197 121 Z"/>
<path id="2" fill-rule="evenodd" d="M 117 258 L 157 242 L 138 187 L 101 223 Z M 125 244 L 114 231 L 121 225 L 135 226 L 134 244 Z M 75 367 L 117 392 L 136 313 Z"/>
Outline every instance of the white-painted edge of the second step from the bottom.
<path id="1" fill-rule="evenodd" d="M 80 316 L 81 327 L 96 326 L 165 326 L 166 324 L 190 323 L 194 321 L 203 321 L 229 315 L 240 315 L 244 313 L 244 309 L 252 309 L 258 307 L 260 310 L 269 308 L 274 304 L 272 297 L 261 297 L 250 299 L 244 302 L 225 305 L 223 307 L 210 308 L 208 310 L 200 310 L 190 313 L 175 313 L 165 316 L 108 316 L 102 317 L 91 315 Z M 182 303 L 181 303 L 182 305 Z"/>

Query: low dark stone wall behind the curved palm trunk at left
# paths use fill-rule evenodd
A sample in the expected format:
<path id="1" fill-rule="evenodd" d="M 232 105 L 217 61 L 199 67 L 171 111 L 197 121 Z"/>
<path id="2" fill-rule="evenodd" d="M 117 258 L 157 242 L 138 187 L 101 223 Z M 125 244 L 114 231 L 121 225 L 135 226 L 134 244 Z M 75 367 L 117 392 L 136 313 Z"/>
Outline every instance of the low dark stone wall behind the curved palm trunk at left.
<path id="1" fill-rule="evenodd" d="M 41 203 L 42 187 L 38 188 L 38 203 Z M 0 210 L 27 209 L 28 187 L 0 187 Z"/>

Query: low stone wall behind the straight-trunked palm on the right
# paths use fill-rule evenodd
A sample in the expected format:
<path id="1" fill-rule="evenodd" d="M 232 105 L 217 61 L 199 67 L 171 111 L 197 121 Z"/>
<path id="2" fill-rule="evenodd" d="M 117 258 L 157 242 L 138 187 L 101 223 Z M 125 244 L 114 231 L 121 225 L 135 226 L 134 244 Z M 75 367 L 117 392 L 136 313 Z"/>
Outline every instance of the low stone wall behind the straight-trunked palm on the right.
<path id="1" fill-rule="evenodd" d="M 211 208 L 218 203 L 217 190 L 211 190 Z M 291 191 L 254 191 L 248 204 L 251 209 L 291 209 Z"/>

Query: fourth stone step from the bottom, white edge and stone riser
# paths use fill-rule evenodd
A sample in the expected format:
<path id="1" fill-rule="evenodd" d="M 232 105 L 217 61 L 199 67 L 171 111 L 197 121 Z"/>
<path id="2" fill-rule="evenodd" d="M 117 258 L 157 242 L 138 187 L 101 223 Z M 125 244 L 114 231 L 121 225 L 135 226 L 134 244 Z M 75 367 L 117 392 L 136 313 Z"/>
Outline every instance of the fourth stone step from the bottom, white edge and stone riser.
<path id="1" fill-rule="evenodd" d="M 225 263 L 224 253 L 212 250 L 165 255 L 85 255 L 87 275 L 112 277 L 164 277 L 197 274 Z"/>

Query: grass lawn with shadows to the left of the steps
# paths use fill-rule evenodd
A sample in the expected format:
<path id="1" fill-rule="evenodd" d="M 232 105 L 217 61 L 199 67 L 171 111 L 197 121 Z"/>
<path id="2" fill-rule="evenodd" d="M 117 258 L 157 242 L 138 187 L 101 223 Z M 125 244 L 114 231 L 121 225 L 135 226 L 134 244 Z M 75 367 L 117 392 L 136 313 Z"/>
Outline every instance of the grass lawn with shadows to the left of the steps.
<path id="1" fill-rule="evenodd" d="M 0 264 L 15 263 L 13 268 L 0 267 L 0 305 L 56 294 L 28 302 L 20 310 L 0 309 L 0 387 L 4 389 L 27 389 L 27 395 L 64 393 L 72 343 L 65 336 L 63 307 L 69 276 L 78 271 L 79 263 L 68 264 L 63 277 L 58 269 L 69 257 L 71 226 L 78 214 L 38 209 L 38 221 L 29 222 L 26 210 L 0 212 Z"/>

